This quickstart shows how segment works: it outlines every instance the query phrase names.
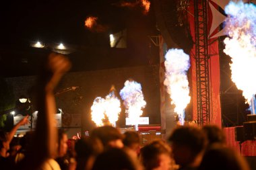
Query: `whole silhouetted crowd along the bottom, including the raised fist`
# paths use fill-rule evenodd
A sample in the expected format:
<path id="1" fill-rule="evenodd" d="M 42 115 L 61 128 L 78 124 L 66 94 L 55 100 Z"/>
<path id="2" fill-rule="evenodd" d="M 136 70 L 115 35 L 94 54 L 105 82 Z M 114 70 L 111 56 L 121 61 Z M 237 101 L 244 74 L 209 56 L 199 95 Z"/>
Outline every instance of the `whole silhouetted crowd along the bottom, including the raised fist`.
<path id="1" fill-rule="evenodd" d="M 0 131 L 0 169 L 249 169 L 245 159 L 226 146 L 224 133 L 214 125 L 177 126 L 166 140 L 145 146 L 141 146 L 138 132 L 121 134 L 113 126 L 98 127 L 90 136 L 68 140 L 55 126 L 53 91 L 71 67 L 70 62 L 61 54 L 50 54 L 42 64 L 35 93 L 36 130 L 13 138 L 19 126 L 28 123 L 26 116 L 10 132 Z"/>

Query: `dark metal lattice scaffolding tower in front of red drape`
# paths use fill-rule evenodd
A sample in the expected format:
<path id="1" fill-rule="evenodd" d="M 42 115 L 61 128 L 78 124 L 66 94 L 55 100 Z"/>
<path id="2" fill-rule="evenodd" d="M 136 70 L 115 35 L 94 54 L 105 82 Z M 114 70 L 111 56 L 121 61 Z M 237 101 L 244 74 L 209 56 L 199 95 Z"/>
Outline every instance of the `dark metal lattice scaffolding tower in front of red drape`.
<path id="1" fill-rule="evenodd" d="M 197 122 L 203 126 L 210 122 L 210 79 L 207 34 L 208 1 L 194 0 L 195 10 L 195 62 L 197 79 Z"/>

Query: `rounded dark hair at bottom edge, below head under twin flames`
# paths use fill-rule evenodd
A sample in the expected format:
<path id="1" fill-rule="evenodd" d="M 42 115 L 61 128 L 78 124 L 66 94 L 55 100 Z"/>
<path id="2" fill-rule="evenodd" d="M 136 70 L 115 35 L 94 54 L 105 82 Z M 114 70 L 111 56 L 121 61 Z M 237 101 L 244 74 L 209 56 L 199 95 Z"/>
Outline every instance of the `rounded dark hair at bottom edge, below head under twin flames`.
<path id="1" fill-rule="evenodd" d="M 136 163 L 133 159 L 121 148 L 109 148 L 102 154 L 98 155 L 92 170 L 135 170 Z"/>

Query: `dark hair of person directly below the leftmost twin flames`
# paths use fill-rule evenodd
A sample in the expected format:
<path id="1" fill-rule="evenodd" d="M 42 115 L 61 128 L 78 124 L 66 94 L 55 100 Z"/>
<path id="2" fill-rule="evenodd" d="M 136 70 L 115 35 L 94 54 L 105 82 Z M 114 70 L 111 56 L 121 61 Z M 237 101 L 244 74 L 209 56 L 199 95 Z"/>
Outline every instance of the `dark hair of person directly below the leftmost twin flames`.
<path id="1" fill-rule="evenodd" d="M 103 146 L 107 146 L 108 142 L 112 140 L 123 139 L 121 132 L 119 132 L 119 130 L 113 126 L 101 126 L 95 128 L 90 136 L 92 138 L 98 138 L 100 142 L 102 142 Z"/>

